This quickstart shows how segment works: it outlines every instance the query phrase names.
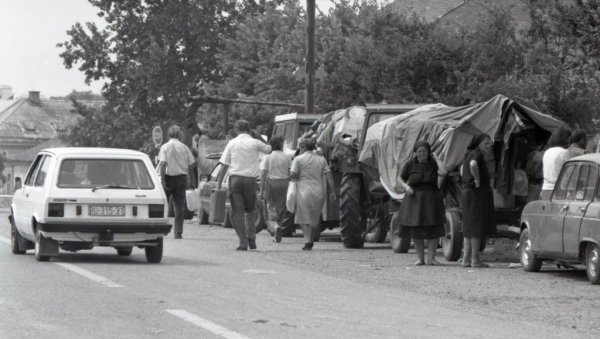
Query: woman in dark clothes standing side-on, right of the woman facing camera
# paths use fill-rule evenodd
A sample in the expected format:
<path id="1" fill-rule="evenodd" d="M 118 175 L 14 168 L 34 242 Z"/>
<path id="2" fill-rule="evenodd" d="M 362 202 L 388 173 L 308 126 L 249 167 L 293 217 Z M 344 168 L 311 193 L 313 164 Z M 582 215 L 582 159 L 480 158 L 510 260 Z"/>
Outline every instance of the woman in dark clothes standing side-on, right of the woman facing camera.
<path id="1" fill-rule="evenodd" d="M 491 155 L 493 142 L 486 134 L 477 135 L 467 146 L 461 166 L 464 254 L 463 267 L 488 267 L 479 259 L 481 240 L 496 233 L 496 209 L 485 155 Z"/>

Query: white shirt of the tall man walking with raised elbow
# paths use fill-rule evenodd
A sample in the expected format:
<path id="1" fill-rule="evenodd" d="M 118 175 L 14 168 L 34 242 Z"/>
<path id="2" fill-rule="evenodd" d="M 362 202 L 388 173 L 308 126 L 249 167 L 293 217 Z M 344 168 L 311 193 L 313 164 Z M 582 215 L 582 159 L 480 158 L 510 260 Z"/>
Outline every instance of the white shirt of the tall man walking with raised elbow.
<path id="1" fill-rule="evenodd" d="M 227 143 L 219 162 L 229 166 L 229 176 L 257 178 L 260 174 L 258 155 L 270 152 L 270 145 L 243 133 Z"/>

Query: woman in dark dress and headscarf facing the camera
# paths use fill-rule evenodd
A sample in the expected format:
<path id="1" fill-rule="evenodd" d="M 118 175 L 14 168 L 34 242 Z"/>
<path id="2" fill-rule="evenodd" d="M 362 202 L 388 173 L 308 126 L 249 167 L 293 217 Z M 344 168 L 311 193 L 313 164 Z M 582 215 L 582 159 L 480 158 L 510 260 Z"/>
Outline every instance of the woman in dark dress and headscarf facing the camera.
<path id="1" fill-rule="evenodd" d="M 412 238 L 418 260 L 415 265 L 438 265 L 435 251 L 438 238 L 444 235 L 444 203 L 439 190 L 438 165 L 431 156 L 431 146 L 418 141 L 415 156 L 404 166 L 400 185 L 406 193 L 400 205 L 400 237 Z M 425 261 L 427 239 L 427 262 Z"/>

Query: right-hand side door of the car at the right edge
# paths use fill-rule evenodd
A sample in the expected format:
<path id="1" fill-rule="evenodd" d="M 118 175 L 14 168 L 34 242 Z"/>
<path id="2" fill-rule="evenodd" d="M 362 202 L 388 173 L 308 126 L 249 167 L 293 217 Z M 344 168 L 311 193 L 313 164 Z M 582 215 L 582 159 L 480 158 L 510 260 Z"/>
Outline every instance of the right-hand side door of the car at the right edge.
<path id="1" fill-rule="evenodd" d="M 565 214 L 563 228 L 563 252 L 565 258 L 577 259 L 579 256 L 579 230 L 581 228 L 581 221 L 590 202 L 594 198 L 594 189 L 596 188 L 597 180 L 598 166 L 596 164 L 582 163 L 579 166 L 577 188 Z"/>

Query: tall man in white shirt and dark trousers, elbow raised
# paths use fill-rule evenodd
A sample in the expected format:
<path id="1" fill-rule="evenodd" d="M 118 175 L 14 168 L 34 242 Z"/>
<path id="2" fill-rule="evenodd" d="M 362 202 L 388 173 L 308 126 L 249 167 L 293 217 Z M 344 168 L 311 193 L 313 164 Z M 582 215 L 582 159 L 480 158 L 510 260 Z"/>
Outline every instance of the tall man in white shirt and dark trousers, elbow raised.
<path id="1" fill-rule="evenodd" d="M 250 132 L 246 120 L 235 123 L 237 137 L 231 139 L 221 155 L 221 171 L 217 179 L 217 189 L 229 170 L 229 202 L 231 221 L 240 240 L 238 251 L 256 249 L 256 192 L 260 171 L 259 153 L 268 154 L 271 146 L 256 132 Z"/>

